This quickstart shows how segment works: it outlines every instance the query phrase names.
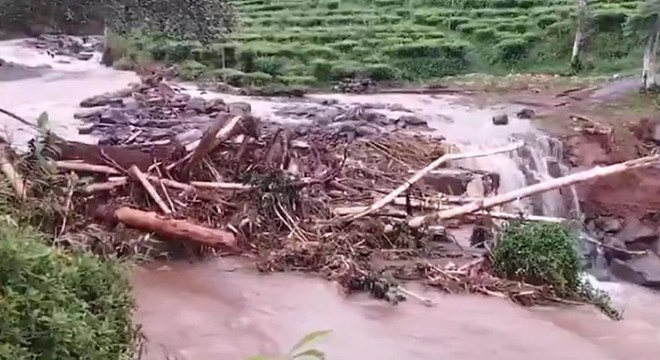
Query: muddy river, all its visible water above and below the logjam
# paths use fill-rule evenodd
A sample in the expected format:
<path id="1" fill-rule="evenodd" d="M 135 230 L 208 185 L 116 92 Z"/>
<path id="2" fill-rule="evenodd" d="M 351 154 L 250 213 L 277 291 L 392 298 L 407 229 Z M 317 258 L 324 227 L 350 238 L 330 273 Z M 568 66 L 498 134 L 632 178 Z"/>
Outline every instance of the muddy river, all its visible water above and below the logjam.
<path id="1" fill-rule="evenodd" d="M 72 115 L 78 102 L 136 80 L 132 73 L 102 68 L 95 62 L 64 63 L 65 59 L 22 48 L 16 41 L 0 42 L 0 58 L 37 67 L 20 71 L 0 67 L 0 106 L 28 119 L 48 110 L 55 131 L 77 140 L 94 141 L 77 135 Z M 350 102 L 400 102 L 429 117 L 432 127 L 463 146 L 486 146 L 533 130 L 529 122 L 519 119 L 493 128 L 490 116 L 498 109 L 459 105 L 452 97 L 334 97 Z M 276 105 L 259 100 L 253 108 L 258 114 L 272 115 Z M 6 117 L 0 117 L 0 126 L 18 145 L 32 136 L 29 129 Z M 546 150 L 538 150 L 535 156 L 549 155 Z M 514 159 L 506 156 L 465 165 L 497 171 L 506 189 L 525 183 Z M 540 176 L 545 176 L 543 170 L 539 169 Z M 548 213 L 558 208 L 552 193 L 543 202 Z M 165 355 L 239 360 L 277 354 L 306 333 L 324 329 L 333 333 L 318 347 L 331 360 L 650 360 L 660 354 L 660 296 L 622 283 L 595 282 L 624 310 L 625 319 L 620 322 L 587 306 L 528 309 L 507 300 L 423 288 L 415 290 L 433 298 L 436 306 L 425 307 L 414 300 L 392 306 L 367 296 L 345 298 L 334 284 L 322 279 L 260 275 L 240 259 L 151 264 L 135 270 L 133 284 L 137 317 L 149 340 L 147 358 L 154 360 Z"/>

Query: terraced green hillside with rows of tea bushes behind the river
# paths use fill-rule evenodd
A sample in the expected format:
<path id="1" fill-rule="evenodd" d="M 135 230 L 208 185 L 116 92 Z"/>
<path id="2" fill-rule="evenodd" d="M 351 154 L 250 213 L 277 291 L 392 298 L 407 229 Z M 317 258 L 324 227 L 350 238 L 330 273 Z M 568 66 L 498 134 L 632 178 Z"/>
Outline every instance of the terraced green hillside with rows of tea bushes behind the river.
<path id="1" fill-rule="evenodd" d="M 230 39 L 161 42 L 156 60 L 234 83 L 323 84 L 353 75 L 428 80 L 468 72 L 568 69 L 576 0 L 235 0 Z M 624 25 L 641 1 L 591 0 L 588 72 L 641 64 Z"/>

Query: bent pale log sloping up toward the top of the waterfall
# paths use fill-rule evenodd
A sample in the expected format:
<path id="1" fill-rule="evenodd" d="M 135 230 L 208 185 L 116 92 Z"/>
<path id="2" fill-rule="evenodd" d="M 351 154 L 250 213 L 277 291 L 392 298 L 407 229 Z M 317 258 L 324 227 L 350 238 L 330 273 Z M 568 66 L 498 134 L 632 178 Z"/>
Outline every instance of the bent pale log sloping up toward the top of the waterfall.
<path id="1" fill-rule="evenodd" d="M 401 186 L 394 189 L 391 193 L 387 194 L 387 196 L 385 196 L 385 197 L 381 198 L 380 200 L 376 201 L 375 203 L 373 203 L 365 211 L 363 211 L 359 214 L 353 215 L 349 220 L 356 220 L 356 219 L 358 219 L 362 216 L 365 216 L 365 215 L 367 215 L 371 212 L 374 212 L 374 211 L 382 208 L 383 206 L 389 204 L 397 196 L 403 194 L 414 183 L 416 183 L 421 178 L 423 178 L 426 174 L 433 171 L 435 168 L 437 168 L 438 166 L 440 166 L 441 164 L 443 164 L 447 161 L 467 159 L 467 158 L 476 158 L 476 157 L 484 157 L 484 156 L 499 154 L 499 153 L 503 153 L 503 152 L 514 151 L 516 149 L 521 148 L 523 145 L 524 145 L 524 143 L 522 143 L 522 142 L 516 142 L 516 143 L 512 143 L 512 144 L 502 146 L 502 147 L 499 147 L 499 148 L 496 148 L 496 149 L 491 149 L 491 150 L 470 151 L 470 152 L 457 153 L 457 154 L 445 154 L 445 155 L 435 159 L 432 163 L 428 164 L 422 170 L 415 173 L 405 183 L 401 184 Z"/>

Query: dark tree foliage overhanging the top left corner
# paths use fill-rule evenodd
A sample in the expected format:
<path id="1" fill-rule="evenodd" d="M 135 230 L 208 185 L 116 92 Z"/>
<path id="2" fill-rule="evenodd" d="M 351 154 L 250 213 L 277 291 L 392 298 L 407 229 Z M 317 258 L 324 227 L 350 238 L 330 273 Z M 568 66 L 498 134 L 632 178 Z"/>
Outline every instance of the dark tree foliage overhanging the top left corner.
<path id="1" fill-rule="evenodd" d="M 104 26 L 120 33 L 136 29 L 169 38 L 208 43 L 235 27 L 227 0 L 0 0 L 0 28 L 77 33 Z"/>

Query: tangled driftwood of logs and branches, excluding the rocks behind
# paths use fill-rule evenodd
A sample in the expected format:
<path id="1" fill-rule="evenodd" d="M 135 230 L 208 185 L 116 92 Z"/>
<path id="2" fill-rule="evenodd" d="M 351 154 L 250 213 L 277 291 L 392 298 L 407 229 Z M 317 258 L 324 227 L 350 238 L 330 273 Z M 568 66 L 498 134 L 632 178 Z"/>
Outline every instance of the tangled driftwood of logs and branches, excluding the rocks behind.
<path id="1" fill-rule="evenodd" d="M 166 92 L 163 99 L 173 96 L 159 83 L 134 87 L 138 92 L 154 88 Z M 149 103 L 142 97 L 137 96 L 140 104 Z M 35 139 L 40 154 L 37 147 L 20 157 L 8 156 L 8 147 L 0 149 L 2 172 L 17 197 L 49 198 L 65 209 L 55 219 L 53 233 L 69 241 L 79 234 L 98 238 L 99 224 L 90 224 L 92 219 L 115 237 L 120 223 L 168 243 L 251 254 L 264 271 L 320 272 L 348 290 L 368 289 L 382 297 L 392 286 L 379 277 L 383 269 L 373 265 L 373 257 L 412 258 L 418 261 L 417 276 L 445 291 L 533 302 L 545 296 L 543 289 L 494 277 L 480 256 L 462 253 L 462 265 L 434 264 L 431 260 L 453 258 L 457 250 L 451 242 L 439 241 L 451 239 L 437 231 L 447 225 L 444 221 L 466 215 L 520 218 L 491 208 L 659 159 L 651 156 L 475 199 L 439 195 L 420 180 L 447 161 L 515 151 L 522 143 L 449 153 L 438 139 L 425 136 L 393 133 L 349 141 L 323 129 L 297 133 L 249 113 L 215 116 L 201 138 L 186 144 L 145 140 L 146 130 L 139 130 L 140 144 L 130 145 L 126 143 L 135 140 L 135 133 L 126 134 L 120 145 L 103 146 L 42 136 Z M 44 166 L 57 172 L 35 170 Z M 43 176 L 54 178 L 44 181 Z"/>

